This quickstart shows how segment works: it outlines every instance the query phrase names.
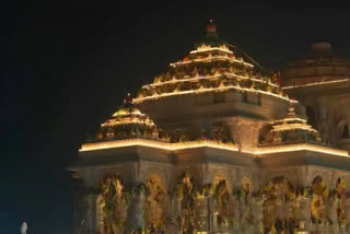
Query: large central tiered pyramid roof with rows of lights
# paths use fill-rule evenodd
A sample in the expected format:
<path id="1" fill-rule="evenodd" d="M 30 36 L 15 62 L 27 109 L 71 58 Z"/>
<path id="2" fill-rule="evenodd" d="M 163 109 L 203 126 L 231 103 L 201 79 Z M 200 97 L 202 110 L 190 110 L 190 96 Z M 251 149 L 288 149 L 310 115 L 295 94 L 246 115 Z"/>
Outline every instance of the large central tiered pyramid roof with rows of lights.
<path id="1" fill-rule="evenodd" d="M 171 63 L 153 83 L 143 85 L 135 102 L 228 90 L 265 93 L 288 100 L 278 78 L 255 71 L 252 63 L 244 61 L 229 48 L 228 43 L 219 39 L 217 26 L 210 22 L 206 37 L 196 44 L 196 49 Z"/>

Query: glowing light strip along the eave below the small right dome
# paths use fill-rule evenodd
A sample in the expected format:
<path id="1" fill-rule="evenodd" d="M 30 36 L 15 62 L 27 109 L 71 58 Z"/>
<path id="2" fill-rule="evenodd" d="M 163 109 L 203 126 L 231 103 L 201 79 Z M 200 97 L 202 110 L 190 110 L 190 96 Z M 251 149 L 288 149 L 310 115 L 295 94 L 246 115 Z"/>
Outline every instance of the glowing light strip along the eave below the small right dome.
<path id="1" fill-rule="evenodd" d="M 349 156 L 348 151 L 338 150 L 327 147 L 322 147 L 317 144 L 310 144 L 310 143 L 299 143 L 299 144 L 288 144 L 288 145 L 277 145 L 277 147 L 261 147 L 259 150 L 255 151 L 254 154 L 256 155 L 264 155 L 270 153 L 283 153 L 283 152 L 291 152 L 291 151 L 314 151 L 318 153 L 327 153 L 337 156 Z"/>

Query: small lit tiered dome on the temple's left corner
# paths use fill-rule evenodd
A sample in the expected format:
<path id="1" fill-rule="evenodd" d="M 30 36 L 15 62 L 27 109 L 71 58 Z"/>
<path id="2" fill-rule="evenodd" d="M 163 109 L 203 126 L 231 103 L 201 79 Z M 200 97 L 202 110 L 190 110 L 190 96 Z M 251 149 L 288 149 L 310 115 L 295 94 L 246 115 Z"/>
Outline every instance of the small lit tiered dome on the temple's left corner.
<path id="1" fill-rule="evenodd" d="M 112 118 L 101 125 L 97 139 L 116 140 L 129 138 L 158 139 L 158 129 L 148 115 L 132 104 L 130 94 Z"/>

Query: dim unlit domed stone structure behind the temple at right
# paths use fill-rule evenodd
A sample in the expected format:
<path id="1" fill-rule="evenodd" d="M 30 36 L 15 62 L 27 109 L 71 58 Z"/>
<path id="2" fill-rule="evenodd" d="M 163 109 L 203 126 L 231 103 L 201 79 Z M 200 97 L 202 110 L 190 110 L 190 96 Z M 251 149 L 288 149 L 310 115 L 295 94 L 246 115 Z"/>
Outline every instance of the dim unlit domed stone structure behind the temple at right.
<path id="1" fill-rule="evenodd" d="M 282 90 L 306 107 L 307 121 L 325 143 L 350 152 L 350 59 L 316 43 L 281 73 Z"/>

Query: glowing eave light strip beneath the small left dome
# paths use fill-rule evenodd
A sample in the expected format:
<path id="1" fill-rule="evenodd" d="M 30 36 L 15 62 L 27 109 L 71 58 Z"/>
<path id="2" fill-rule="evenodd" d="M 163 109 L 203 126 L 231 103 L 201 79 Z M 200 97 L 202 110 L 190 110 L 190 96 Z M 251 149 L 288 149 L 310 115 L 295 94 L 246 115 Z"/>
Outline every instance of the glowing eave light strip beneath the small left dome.
<path id="1" fill-rule="evenodd" d="M 156 148 L 162 150 L 184 150 L 184 149 L 194 149 L 194 148 L 214 148 L 220 150 L 230 150 L 230 151 L 238 151 L 235 144 L 225 144 L 225 143 L 218 143 L 215 141 L 185 141 L 178 143 L 168 143 L 162 141 L 152 141 L 145 139 L 127 139 L 127 140 L 115 140 L 115 141 L 103 141 L 103 142 L 94 142 L 94 143 L 84 143 L 82 144 L 79 152 L 84 151 L 94 151 L 94 150 L 106 150 L 106 149 L 114 149 L 114 148 L 126 148 L 126 147 L 149 147 L 149 148 Z"/>

